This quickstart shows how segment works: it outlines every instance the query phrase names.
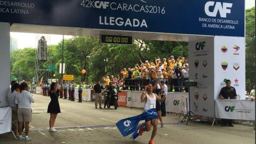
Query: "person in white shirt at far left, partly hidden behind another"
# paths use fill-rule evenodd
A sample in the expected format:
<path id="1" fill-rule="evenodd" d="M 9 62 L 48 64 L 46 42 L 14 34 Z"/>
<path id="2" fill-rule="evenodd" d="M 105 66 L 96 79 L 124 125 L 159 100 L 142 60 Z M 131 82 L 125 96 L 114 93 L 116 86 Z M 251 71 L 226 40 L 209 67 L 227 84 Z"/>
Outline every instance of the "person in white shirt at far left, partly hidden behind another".
<path id="1" fill-rule="evenodd" d="M 18 93 L 19 89 L 20 89 L 20 84 L 14 83 L 11 87 L 11 90 L 7 94 L 8 102 L 9 102 L 10 106 L 12 107 L 12 121 L 15 123 L 16 137 L 19 136 L 19 132 L 18 132 L 19 121 L 18 121 L 18 108 L 15 104 L 15 98 L 19 94 Z"/>

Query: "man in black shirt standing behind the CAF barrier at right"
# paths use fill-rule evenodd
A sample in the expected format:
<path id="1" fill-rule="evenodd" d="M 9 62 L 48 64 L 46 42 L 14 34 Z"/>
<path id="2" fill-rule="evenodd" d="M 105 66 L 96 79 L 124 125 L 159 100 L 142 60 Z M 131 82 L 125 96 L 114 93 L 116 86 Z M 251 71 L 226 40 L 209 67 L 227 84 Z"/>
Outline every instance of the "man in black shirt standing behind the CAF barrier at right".
<path id="1" fill-rule="evenodd" d="M 236 99 L 236 89 L 231 86 L 231 81 L 228 79 L 226 80 L 226 86 L 221 88 L 220 90 L 220 99 Z M 221 126 L 231 126 L 234 127 L 232 124 L 231 119 L 221 119 L 222 125 Z"/>

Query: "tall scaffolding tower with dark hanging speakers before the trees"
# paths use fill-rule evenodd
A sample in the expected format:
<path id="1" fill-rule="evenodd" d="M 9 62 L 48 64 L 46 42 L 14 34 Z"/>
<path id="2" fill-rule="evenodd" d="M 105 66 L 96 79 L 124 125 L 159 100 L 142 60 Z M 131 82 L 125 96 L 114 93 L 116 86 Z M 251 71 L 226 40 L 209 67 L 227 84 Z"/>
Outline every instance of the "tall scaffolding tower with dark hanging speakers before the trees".
<path id="1" fill-rule="evenodd" d="M 47 61 L 47 43 L 45 37 L 42 36 L 38 40 L 38 48 L 36 49 L 35 60 L 35 79 L 36 83 L 47 81 L 50 77 L 50 71 L 44 68 L 44 63 Z"/>

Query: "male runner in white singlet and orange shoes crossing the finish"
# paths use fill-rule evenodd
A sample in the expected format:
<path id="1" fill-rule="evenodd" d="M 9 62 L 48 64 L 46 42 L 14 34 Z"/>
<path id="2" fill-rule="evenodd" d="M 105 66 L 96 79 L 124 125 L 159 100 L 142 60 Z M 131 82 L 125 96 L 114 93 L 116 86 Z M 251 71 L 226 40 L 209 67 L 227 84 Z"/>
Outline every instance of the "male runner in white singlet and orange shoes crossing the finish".
<path id="1" fill-rule="evenodd" d="M 148 93 L 146 93 L 148 91 Z M 153 86 L 152 84 L 148 84 L 145 86 L 143 93 L 141 94 L 140 100 L 144 100 L 144 110 L 149 110 L 151 108 L 156 108 L 156 100 L 162 102 L 166 98 L 166 95 L 161 99 L 155 93 L 153 93 Z M 149 140 L 149 144 L 154 144 L 153 139 L 156 135 L 157 124 L 158 124 L 158 117 L 156 116 L 153 119 L 146 119 L 146 126 L 140 127 L 139 135 L 141 136 L 143 132 L 149 132 L 151 129 L 151 124 L 153 124 L 153 131 L 151 135 L 151 139 Z"/>

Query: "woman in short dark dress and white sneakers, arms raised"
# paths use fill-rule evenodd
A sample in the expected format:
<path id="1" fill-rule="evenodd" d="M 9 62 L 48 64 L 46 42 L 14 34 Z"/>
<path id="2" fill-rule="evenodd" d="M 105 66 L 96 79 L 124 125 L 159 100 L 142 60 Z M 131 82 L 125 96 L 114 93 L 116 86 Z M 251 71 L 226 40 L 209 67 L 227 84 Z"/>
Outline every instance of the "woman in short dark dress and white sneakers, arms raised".
<path id="1" fill-rule="evenodd" d="M 50 113 L 50 132 L 57 132 L 57 130 L 53 127 L 55 123 L 55 119 L 57 117 L 57 114 L 60 113 L 60 104 L 59 104 L 59 92 L 62 91 L 62 88 L 57 90 L 58 83 L 52 83 L 51 89 L 50 89 L 50 97 L 51 102 L 48 105 L 47 113 Z"/>

